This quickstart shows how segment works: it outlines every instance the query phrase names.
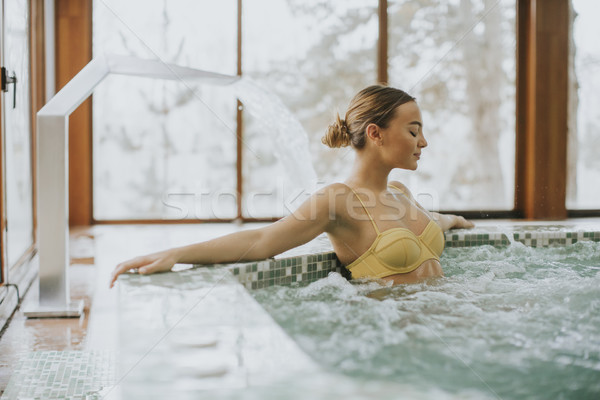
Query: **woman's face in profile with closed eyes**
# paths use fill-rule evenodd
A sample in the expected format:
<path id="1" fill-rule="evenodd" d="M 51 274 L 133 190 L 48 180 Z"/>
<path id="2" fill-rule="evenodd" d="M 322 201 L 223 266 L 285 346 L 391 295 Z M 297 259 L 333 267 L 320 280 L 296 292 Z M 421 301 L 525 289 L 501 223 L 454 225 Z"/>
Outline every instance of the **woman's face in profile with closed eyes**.
<path id="1" fill-rule="evenodd" d="M 392 168 L 417 169 L 423 136 L 421 110 L 414 101 L 398 106 L 387 128 L 381 129 L 383 160 Z"/>

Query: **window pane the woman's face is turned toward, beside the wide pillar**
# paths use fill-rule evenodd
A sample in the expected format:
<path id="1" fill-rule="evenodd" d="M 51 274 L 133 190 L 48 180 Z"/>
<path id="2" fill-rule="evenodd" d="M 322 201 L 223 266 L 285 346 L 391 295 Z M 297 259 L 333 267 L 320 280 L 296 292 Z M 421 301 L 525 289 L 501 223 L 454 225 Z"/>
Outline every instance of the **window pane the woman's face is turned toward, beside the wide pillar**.
<path id="1" fill-rule="evenodd" d="M 390 0 L 389 80 L 421 106 L 429 146 L 395 170 L 431 209 L 512 210 L 515 0 Z"/>

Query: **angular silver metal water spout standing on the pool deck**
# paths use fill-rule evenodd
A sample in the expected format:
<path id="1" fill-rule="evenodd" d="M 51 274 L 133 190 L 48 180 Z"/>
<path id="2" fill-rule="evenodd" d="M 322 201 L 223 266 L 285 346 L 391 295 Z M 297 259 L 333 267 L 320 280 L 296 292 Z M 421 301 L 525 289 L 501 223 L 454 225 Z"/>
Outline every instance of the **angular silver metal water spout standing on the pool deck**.
<path id="1" fill-rule="evenodd" d="M 83 301 L 69 294 L 69 115 L 108 75 L 196 80 L 230 85 L 239 77 L 126 56 L 102 56 L 89 62 L 37 113 L 37 246 L 39 303 L 27 317 L 78 317 Z"/>

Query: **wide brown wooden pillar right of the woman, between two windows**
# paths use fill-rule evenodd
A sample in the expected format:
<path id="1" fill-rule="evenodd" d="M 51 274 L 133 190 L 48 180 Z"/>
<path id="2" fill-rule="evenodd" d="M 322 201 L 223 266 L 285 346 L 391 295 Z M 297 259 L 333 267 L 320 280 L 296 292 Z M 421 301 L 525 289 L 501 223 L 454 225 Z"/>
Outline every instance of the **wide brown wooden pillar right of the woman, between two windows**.
<path id="1" fill-rule="evenodd" d="M 567 216 L 568 1 L 519 1 L 515 208 L 527 219 Z"/>

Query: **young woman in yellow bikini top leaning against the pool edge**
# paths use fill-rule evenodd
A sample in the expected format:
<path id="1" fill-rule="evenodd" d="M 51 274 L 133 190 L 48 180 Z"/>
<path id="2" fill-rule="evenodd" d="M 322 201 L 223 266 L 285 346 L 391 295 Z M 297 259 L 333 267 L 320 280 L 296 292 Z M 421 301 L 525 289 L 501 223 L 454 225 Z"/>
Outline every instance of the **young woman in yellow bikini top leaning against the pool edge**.
<path id="1" fill-rule="evenodd" d="M 345 119 L 337 115 L 323 143 L 351 145 L 356 160 L 349 178 L 314 193 L 293 214 L 260 229 L 233 233 L 185 247 L 125 261 L 112 273 L 169 271 L 174 264 L 217 264 L 261 260 L 327 232 L 339 260 L 353 278 L 411 283 L 442 276 L 443 232 L 470 228 L 456 215 L 428 212 L 400 182 L 388 182 L 394 168 L 417 169 L 427 147 L 415 99 L 387 86 L 361 90 Z"/>

